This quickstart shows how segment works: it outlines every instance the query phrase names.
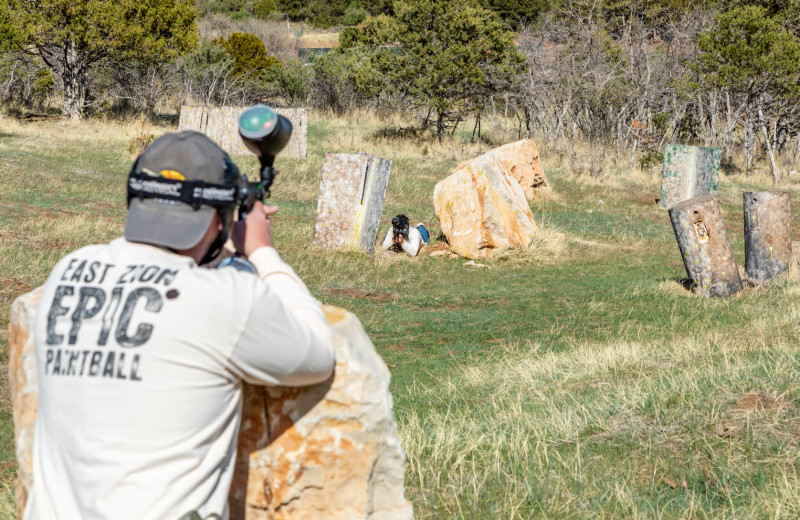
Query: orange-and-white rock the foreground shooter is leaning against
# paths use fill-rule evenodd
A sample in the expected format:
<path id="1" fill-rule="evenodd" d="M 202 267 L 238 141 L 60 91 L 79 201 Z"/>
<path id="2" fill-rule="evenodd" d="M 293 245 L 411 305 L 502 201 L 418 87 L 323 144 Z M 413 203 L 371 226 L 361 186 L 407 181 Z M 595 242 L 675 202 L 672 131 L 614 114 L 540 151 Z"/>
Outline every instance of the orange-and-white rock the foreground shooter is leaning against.
<path id="1" fill-rule="evenodd" d="M 11 307 L 9 382 L 17 452 L 17 512 L 33 484 L 38 407 L 31 327 L 41 289 Z M 404 497 L 405 455 L 389 393 L 390 373 L 361 322 L 324 306 L 336 341 L 336 372 L 302 388 L 244 385 L 233 520 L 413 518 Z"/>

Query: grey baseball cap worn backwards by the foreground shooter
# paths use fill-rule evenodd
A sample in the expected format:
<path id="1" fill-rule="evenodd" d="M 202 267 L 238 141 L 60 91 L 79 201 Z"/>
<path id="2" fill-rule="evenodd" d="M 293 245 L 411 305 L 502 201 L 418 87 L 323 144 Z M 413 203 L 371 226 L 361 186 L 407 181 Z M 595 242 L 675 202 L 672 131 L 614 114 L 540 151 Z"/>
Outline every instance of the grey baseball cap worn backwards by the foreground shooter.
<path id="1" fill-rule="evenodd" d="M 142 152 L 131 174 L 210 184 L 234 182 L 228 154 L 200 132 L 185 130 L 159 137 Z M 208 230 L 216 208 L 158 198 L 133 197 L 128 205 L 125 238 L 171 249 L 190 249 Z"/>

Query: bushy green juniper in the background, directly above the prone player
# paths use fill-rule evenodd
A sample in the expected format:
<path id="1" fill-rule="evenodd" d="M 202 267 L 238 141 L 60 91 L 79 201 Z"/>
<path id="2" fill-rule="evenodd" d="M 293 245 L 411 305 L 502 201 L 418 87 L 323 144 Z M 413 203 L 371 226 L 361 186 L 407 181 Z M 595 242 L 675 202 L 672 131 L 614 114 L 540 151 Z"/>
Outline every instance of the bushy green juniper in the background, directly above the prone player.
<path id="1" fill-rule="evenodd" d="M 469 0 L 399 0 L 393 17 L 369 19 L 340 41 L 343 52 L 372 52 L 354 72 L 362 91 L 409 100 L 440 139 L 510 89 L 524 63 L 505 22 Z"/>

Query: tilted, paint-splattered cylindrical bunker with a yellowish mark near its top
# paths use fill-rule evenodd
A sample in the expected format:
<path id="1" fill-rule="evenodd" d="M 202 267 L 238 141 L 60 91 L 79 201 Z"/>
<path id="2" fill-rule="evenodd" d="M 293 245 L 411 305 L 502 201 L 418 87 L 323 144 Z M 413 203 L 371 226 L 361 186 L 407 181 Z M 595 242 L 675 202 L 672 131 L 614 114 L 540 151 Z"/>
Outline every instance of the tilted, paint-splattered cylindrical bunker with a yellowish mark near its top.
<path id="1" fill-rule="evenodd" d="M 742 280 L 717 198 L 705 195 L 676 204 L 669 210 L 669 218 L 692 291 L 705 297 L 730 296 L 739 291 Z"/>

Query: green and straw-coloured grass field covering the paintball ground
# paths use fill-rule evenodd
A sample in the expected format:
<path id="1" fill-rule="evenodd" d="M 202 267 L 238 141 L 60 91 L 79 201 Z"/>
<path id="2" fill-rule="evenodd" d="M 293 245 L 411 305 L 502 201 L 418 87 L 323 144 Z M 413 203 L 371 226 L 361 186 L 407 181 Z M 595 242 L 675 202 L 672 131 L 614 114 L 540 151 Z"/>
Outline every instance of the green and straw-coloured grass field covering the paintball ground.
<path id="1" fill-rule="evenodd" d="M 359 316 L 390 367 L 417 518 L 800 516 L 796 267 L 732 298 L 692 296 L 654 204 L 659 179 L 574 176 L 546 150 L 554 194 L 533 203 L 546 239 L 527 253 L 470 269 L 313 247 L 325 151 L 392 159 L 381 232 L 402 211 L 438 235 L 433 186 L 479 149 L 379 137 L 383 125 L 312 115 L 309 158 L 278 162 L 276 243 L 320 300 Z M 14 509 L 9 306 L 67 252 L 121 234 L 137 132 L 0 117 L 2 518 Z M 740 264 L 743 189 L 771 186 L 721 180 Z"/>

